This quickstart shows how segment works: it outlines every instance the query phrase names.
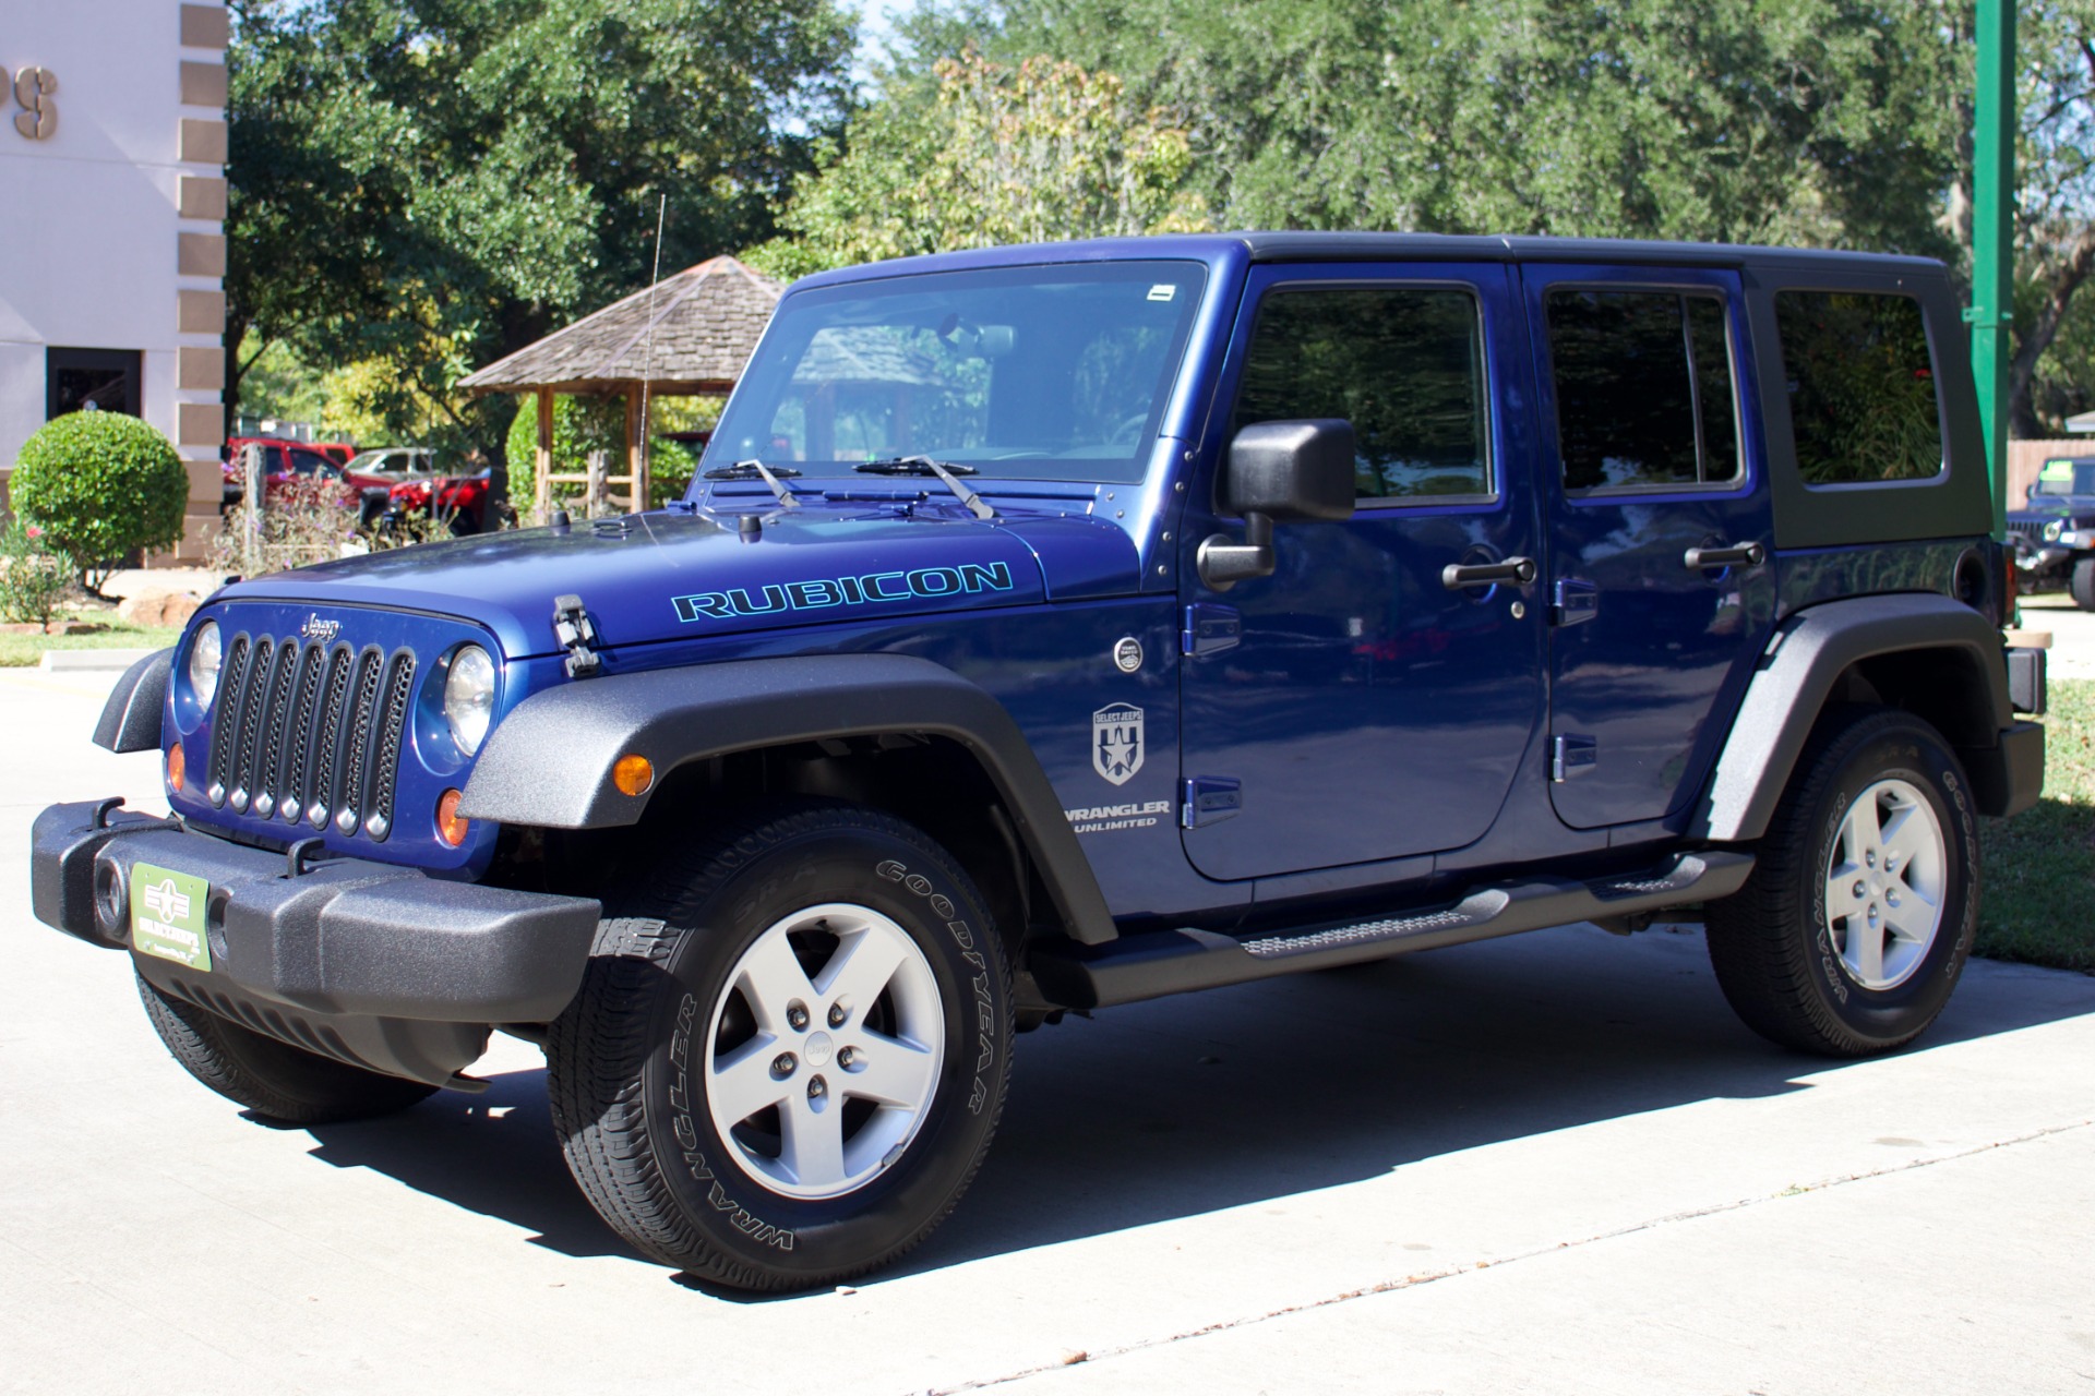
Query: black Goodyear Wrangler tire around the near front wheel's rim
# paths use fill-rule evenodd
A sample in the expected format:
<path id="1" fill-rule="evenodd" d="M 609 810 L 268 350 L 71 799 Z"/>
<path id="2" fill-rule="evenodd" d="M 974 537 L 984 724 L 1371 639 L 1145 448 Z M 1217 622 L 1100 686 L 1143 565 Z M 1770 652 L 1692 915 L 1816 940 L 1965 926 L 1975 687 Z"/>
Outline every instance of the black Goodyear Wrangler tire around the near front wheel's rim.
<path id="1" fill-rule="evenodd" d="M 916 1132 L 880 1172 L 794 1197 L 723 1139 L 708 1032 L 767 927 L 846 902 L 918 946 L 945 1049 Z M 672 846 L 649 885 L 605 910 L 582 988 L 547 1036 L 547 1086 L 568 1168 L 612 1231 L 691 1277 L 758 1291 L 863 1275 L 930 1235 L 989 1151 L 1012 1059 L 1010 965 L 953 858 L 888 814 L 794 802 Z"/>

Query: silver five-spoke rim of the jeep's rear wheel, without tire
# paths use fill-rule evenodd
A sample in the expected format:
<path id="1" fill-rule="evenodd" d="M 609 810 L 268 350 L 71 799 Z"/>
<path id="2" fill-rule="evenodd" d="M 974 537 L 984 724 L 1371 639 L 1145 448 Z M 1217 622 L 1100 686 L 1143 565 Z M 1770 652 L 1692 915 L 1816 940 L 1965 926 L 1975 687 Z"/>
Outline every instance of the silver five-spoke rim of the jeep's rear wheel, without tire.
<path id="1" fill-rule="evenodd" d="M 1942 929 L 1948 848 L 1936 808 L 1906 781 L 1877 781 L 1842 814 L 1827 860 L 1827 931 L 1862 988 L 1913 977 Z"/>

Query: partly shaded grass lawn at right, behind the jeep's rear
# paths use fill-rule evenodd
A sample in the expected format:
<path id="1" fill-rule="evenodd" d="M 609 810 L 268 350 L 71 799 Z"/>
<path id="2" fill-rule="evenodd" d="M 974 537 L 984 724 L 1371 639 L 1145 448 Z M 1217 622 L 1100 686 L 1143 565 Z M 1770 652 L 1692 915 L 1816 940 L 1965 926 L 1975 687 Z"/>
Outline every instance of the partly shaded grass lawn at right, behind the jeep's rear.
<path id="1" fill-rule="evenodd" d="M 2095 682 L 2051 684 L 2045 797 L 1982 820 L 1978 954 L 2095 973 Z"/>

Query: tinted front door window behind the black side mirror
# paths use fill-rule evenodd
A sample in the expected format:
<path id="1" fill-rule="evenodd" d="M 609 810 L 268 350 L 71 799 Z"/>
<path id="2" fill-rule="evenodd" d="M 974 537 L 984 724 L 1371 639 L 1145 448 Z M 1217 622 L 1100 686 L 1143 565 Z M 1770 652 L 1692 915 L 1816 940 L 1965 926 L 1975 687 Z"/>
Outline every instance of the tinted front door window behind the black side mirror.
<path id="1" fill-rule="evenodd" d="M 1353 423 L 1360 498 L 1492 494 L 1477 297 L 1452 287 L 1316 287 L 1259 306 L 1232 435 L 1259 421 Z"/>

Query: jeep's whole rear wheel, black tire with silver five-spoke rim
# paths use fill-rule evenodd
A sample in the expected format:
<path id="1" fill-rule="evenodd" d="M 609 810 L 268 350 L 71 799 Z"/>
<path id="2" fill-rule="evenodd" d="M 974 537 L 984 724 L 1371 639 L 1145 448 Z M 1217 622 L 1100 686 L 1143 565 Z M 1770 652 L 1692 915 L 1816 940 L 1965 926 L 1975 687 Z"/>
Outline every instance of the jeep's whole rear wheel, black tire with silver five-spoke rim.
<path id="1" fill-rule="evenodd" d="M 1902 1046 L 1948 1003 L 1978 933 L 1971 789 L 1934 726 L 1881 707 L 1821 722 L 1754 875 L 1707 913 L 1730 1007 L 1833 1057 Z"/>

